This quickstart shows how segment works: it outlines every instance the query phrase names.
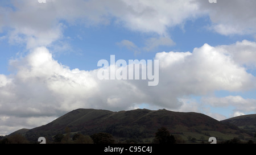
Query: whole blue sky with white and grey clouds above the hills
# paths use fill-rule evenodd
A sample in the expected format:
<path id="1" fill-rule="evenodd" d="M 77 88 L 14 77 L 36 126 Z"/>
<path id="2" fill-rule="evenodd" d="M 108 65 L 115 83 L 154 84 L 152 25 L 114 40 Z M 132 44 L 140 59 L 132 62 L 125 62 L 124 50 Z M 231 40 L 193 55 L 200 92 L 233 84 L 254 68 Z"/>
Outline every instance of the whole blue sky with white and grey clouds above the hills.
<path id="1" fill-rule="evenodd" d="M 40 2 L 0 1 L 0 135 L 77 108 L 255 114 L 256 1 Z M 110 55 L 159 60 L 158 85 L 99 79 Z"/>

